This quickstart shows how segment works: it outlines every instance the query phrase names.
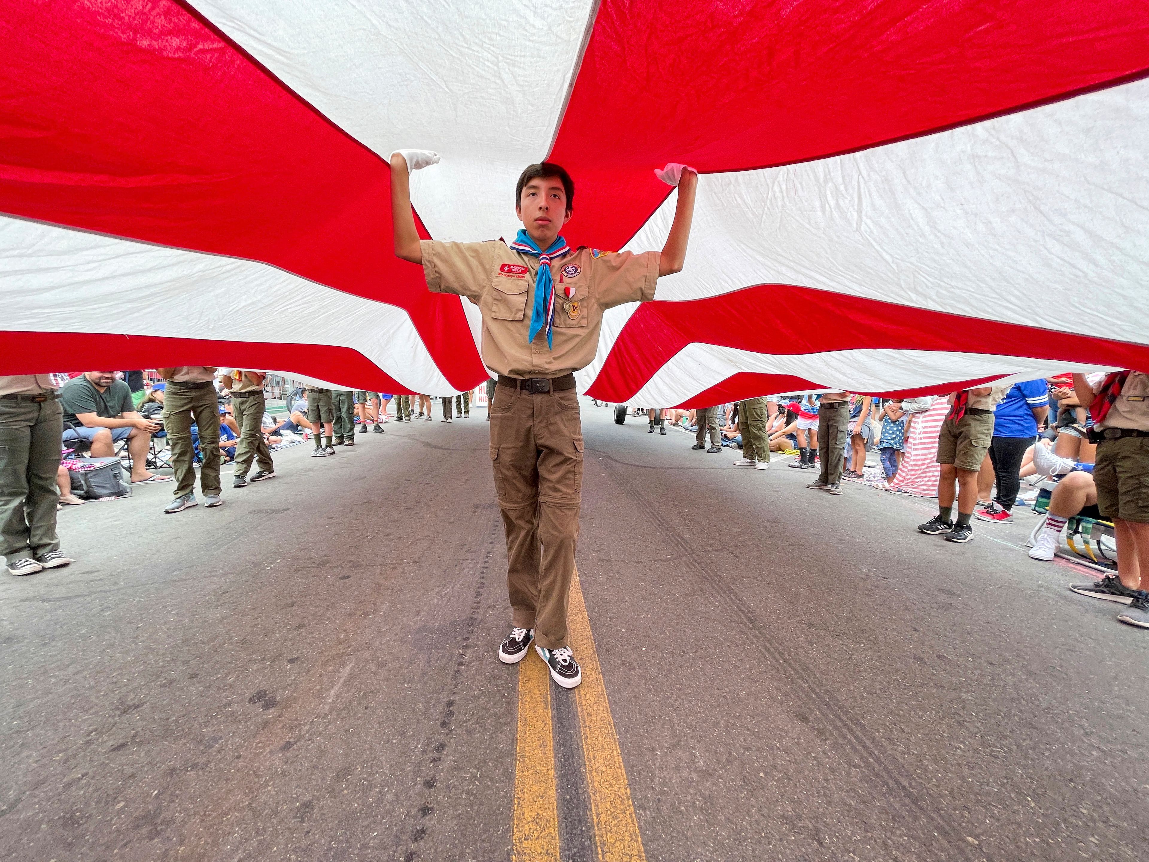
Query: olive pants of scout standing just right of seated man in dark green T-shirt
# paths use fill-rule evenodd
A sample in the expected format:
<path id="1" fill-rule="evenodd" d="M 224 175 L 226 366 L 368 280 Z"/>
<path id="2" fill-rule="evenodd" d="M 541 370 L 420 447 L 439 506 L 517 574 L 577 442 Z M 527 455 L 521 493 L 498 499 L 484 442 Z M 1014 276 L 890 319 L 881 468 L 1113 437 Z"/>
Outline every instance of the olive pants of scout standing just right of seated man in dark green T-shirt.
<path id="1" fill-rule="evenodd" d="M 195 490 L 195 449 L 192 446 L 192 416 L 200 432 L 200 488 L 205 494 L 219 493 L 219 401 L 209 383 L 188 388 L 171 380 L 163 397 L 163 429 L 171 446 L 176 471 L 176 497 Z"/>

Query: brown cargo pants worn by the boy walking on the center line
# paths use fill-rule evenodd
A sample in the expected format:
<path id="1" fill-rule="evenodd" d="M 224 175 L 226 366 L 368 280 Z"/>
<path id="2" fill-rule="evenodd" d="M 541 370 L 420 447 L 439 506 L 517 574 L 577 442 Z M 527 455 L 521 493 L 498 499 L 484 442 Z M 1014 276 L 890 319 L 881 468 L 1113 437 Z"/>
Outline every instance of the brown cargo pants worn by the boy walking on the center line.
<path id="1" fill-rule="evenodd" d="M 507 534 L 514 624 L 546 649 L 566 646 L 583 493 L 583 423 L 573 388 L 500 385 L 491 407 L 491 463 Z"/>

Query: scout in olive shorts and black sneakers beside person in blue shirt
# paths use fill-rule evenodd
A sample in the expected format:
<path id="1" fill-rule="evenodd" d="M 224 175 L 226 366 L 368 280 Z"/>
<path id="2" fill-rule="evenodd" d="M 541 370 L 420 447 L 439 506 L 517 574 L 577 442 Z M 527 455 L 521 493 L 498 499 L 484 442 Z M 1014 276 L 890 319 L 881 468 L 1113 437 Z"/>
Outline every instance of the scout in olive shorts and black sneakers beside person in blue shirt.
<path id="1" fill-rule="evenodd" d="M 994 407 L 1009 386 L 980 386 L 962 390 L 949 397 L 949 414 L 938 436 L 938 514 L 918 531 L 947 541 L 966 542 L 973 538 L 973 507 L 978 502 L 978 472 L 994 439 Z M 957 482 L 957 521 L 954 515 L 954 483 Z"/>

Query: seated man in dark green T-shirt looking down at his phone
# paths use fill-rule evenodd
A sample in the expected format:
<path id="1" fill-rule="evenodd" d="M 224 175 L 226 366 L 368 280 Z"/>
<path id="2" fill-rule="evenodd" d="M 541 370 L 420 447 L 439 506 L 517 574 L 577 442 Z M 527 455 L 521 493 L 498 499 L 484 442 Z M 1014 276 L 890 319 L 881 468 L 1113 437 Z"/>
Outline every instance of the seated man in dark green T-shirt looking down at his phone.
<path id="1" fill-rule="evenodd" d="M 132 456 L 132 482 L 171 482 L 147 469 L 152 433 L 163 425 L 139 414 L 128 384 L 115 371 L 85 371 L 60 390 L 64 411 L 63 441 L 86 440 L 93 457 L 114 457 L 115 444 L 128 440 Z"/>

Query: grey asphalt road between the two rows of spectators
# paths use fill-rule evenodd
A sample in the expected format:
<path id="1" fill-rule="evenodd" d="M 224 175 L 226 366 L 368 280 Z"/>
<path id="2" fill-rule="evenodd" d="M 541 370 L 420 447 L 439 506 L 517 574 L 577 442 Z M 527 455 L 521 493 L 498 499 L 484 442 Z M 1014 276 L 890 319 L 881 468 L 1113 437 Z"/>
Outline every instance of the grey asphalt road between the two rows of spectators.
<path id="1" fill-rule="evenodd" d="M 579 696 L 625 780 L 596 801 L 553 688 L 562 860 L 1149 857 L 1149 633 L 1031 561 L 1028 513 L 955 546 L 927 501 L 583 416 Z M 0 583 L 0 859 L 525 857 L 487 425 L 386 429 L 224 468 L 219 509 L 60 513 L 79 562 Z"/>

